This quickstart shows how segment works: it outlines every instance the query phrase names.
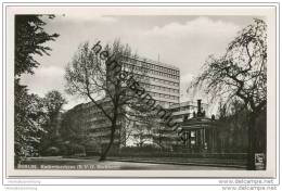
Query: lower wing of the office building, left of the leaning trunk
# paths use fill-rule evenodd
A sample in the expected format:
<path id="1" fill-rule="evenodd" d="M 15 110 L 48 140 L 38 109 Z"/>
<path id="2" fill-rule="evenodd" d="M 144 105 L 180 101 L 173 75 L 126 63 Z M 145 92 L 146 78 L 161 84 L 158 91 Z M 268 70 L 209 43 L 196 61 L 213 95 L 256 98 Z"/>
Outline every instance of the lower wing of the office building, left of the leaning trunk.
<path id="1" fill-rule="evenodd" d="M 111 112 L 112 106 L 108 100 L 99 100 L 99 104 L 103 104 L 104 110 Z M 111 122 L 94 103 L 78 104 L 67 111 L 63 118 L 61 133 L 64 133 L 69 141 L 86 147 L 87 152 L 99 153 L 110 142 Z M 125 145 L 121 123 L 119 119 L 115 131 L 115 147 Z"/>

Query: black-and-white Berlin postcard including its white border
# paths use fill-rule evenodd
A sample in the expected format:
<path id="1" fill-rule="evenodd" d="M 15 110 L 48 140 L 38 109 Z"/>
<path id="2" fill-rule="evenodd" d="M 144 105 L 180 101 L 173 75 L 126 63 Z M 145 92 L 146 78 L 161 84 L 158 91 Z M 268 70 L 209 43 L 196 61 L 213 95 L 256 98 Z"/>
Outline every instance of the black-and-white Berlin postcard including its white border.
<path id="1" fill-rule="evenodd" d="M 275 176 L 275 8 L 5 12 L 11 176 Z"/>

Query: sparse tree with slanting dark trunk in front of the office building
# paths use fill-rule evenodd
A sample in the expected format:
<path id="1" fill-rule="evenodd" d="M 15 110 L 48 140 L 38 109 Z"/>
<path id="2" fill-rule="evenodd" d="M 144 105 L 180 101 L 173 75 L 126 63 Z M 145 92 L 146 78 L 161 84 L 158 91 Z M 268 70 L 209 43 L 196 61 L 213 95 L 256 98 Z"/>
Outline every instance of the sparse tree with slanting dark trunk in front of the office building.
<path id="1" fill-rule="evenodd" d="M 136 111 L 140 104 L 139 97 L 130 90 L 121 74 L 139 81 L 144 78 L 146 69 L 142 66 L 139 66 L 141 69 L 134 67 L 137 63 L 130 59 L 133 56 L 130 48 L 118 40 L 112 46 L 105 46 L 100 54 L 102 47 L 99 43 L 90 47 L 86 42 L 79 47 L 66 67 L 65 79 L 68 93 L 89 99 L 111 123 L 108 144 L 100 157 L 100 161 L 104 161 L 113 145 L 116 130 L 120 128 L 120 122 L 123 118 L 130 120 L 129 116 L 134 115 L 134 112 L 129 111 Z M 130 63 L 130 67 L 125 67 L 126 63 Z M 106 109 L 103 102 L 99 102 L 101 99 L 110 102 L 111 110 Z"/>

